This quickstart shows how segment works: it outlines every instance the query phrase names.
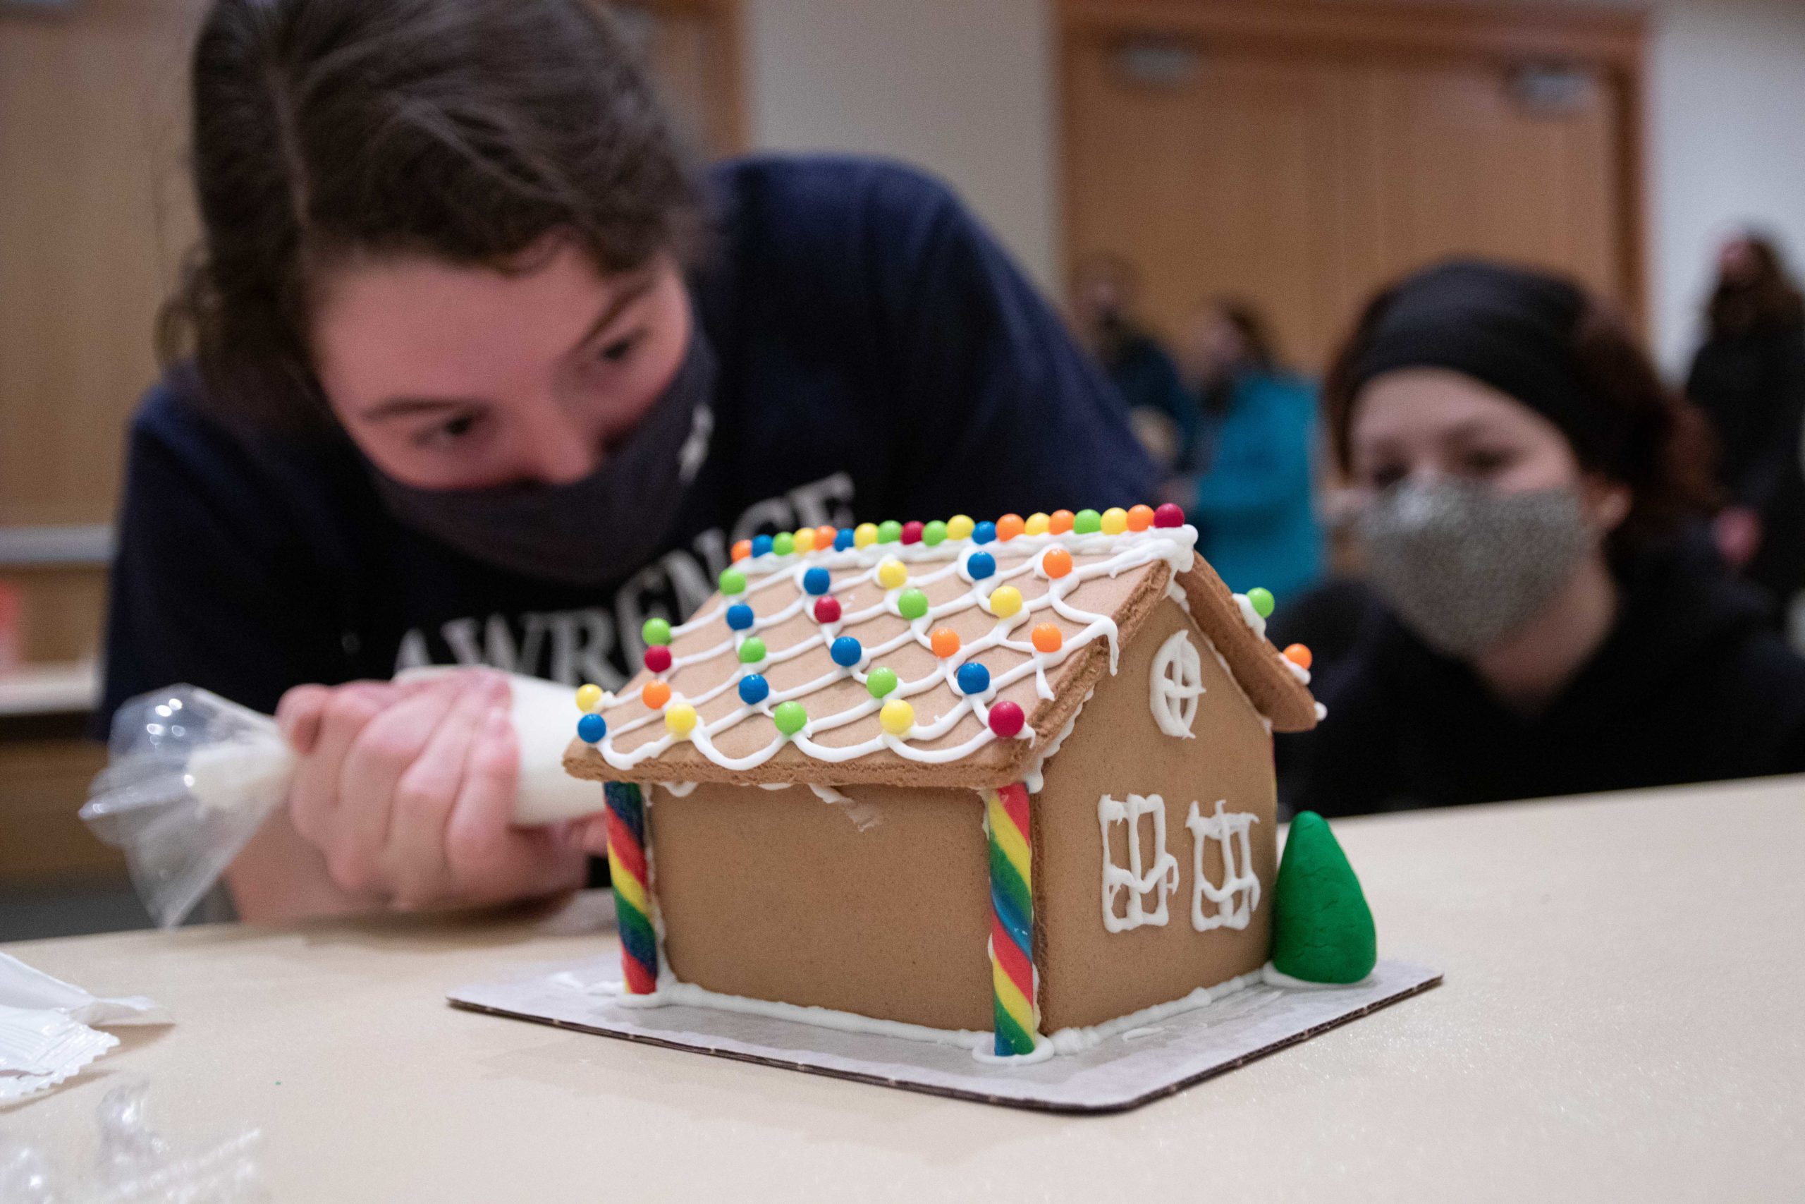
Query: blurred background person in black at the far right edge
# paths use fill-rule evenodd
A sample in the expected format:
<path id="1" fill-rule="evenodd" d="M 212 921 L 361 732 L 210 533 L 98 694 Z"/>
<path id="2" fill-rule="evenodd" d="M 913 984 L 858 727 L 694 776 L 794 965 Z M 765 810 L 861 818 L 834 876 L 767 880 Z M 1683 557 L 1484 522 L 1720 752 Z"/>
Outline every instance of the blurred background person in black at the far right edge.
<path id="1" fill-rule="evenodd" d="M 1686 395 L 1718 437 L 1718 480 L 1729 498 L 1713 525 L 1718 551 L 1782 608 L 1794 608 L 1805 587 L 1805 303 L 1767 238 L 1736 235 L 1718 253 Z"/>

